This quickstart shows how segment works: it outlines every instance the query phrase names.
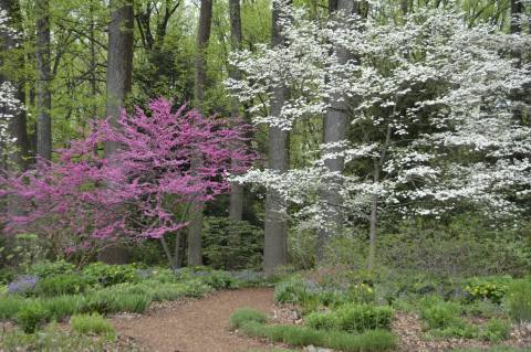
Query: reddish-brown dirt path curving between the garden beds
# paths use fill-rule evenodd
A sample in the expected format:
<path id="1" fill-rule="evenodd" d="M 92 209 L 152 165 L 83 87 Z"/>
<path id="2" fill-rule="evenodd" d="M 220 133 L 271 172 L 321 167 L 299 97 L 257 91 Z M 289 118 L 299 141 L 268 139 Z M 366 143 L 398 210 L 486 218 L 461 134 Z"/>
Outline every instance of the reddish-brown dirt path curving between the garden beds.
<path id="1" fill-rule="evenodd" d="M 250 307 L 271 313 L 269 288 L 221 291 L 204 299 L 177 302 L 133 319 L 115 318 L 121 334 L 133 338 L 149 352 L 240 352 L 267 349 L 256 340 L 229 331 L 229 318 Z"/>

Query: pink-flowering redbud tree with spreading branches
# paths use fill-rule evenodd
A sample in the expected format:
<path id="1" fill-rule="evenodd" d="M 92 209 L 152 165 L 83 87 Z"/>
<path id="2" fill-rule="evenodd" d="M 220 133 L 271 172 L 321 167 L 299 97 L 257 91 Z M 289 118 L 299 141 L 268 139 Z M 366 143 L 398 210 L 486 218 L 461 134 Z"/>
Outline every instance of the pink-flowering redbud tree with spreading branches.
<path id="1" fill-rule="evenodd" d="M 190 206 L 228 192 L 228 177 L 250 167 L 256 154 L 244 143 L 248 130 L 184 106 L 174 111 L 162 98 L 149 111 L 124 111 L 115 128 L 98 121 L 85 139 L 60 150 L 58 161 L 2 173 L 0 196 L 21 196 L 27 204 L 25 215 L 4 220 L 7 231 L 42 234 L 67 254 L 124 238 L 159 238 L 175 266 L 179 249 L 170 250 L 165 236 L 179 238 Z M 104 141 L 121 145 L 111 159 L 94 152 Z"/>

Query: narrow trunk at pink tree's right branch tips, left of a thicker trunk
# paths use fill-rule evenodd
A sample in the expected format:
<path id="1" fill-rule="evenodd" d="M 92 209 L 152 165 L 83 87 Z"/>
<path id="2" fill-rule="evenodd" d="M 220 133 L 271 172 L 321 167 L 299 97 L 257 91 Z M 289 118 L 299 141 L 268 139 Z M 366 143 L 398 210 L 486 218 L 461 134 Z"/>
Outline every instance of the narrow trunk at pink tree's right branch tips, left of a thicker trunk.
<path id="1" fill-rule="evenodd" d="M 241 15 L 240 0 L 229 0 L 230 17 L 230 46 L 232 51 L 241 49 Z M 236 81 L 241 78 L 240 72 L 236 67 L 230 67 L 229 77 Z M 238 99 L 232 99 L 232 120 L 239 118 Z M 230 206 L 229 218 L 232 221 L 241 221 L 243 214 L 243 185 L 233 183 L 230 186 Z"/>

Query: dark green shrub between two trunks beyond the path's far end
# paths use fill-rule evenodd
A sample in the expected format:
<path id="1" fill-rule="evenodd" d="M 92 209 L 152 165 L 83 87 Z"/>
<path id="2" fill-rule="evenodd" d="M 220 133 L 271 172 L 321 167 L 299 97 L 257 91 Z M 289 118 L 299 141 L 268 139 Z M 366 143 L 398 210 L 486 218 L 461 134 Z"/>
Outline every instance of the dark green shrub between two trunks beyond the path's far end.
<path id="1" fill-rule="evenodd" d="M 246 221 L 205 217 L 206 263 L 216 269 L 259 268 L 262 260 L 263 231 Z"/>

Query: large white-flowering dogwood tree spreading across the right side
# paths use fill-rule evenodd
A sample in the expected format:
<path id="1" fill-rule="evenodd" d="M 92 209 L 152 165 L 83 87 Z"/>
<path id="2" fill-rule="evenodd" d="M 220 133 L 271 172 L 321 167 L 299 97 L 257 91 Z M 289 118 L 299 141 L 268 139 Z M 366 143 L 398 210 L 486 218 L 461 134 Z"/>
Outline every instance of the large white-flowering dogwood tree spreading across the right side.
<path id="1" fill-rule="evenodd" d="M 345 224 L 368 221 L 369 257 L 384 210 L 441 216 L 473 206 L 497 217 L 524 211 L 531 128 L 521 118 L 529 106 L 514 97 L 531 84 L 529 34 L 470 28 L 461 13 L 442 9 L 418 10 L 400 23 L 344 13 L 315 20 L 303 8 L 283 9 L 289 45 L 235 53 L 231 63 L 243 75 L 227 81 L 228 89 L 257 124 L 287 130 L 344 97 L 348 138 L 322 145 L 306 168 L 282 174 L 252 169 L 236 182 L 277 190 L 287 205 L 296 205 L 285 215 L 299 226 L 332 226 L 330 209 Z M 337 60 L 337 46 L 352 58 Z M 267 102 L 280 84 L 291 96 L 271 116 Z M 341 174 L 325 167 L 335 158 L 345 160 Z M 330 204 L 320 194 L 336 178 L 341 202 Z"/>

